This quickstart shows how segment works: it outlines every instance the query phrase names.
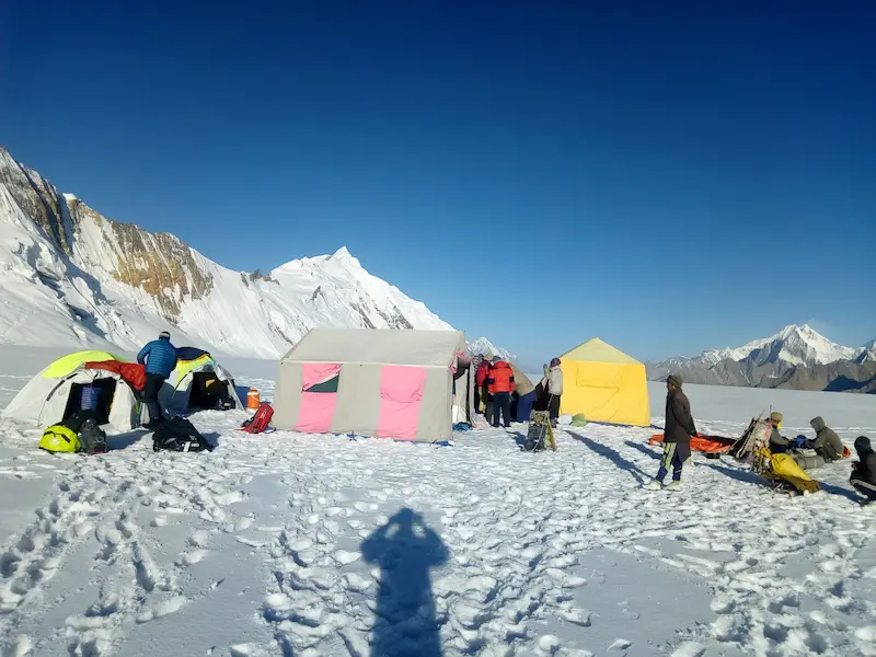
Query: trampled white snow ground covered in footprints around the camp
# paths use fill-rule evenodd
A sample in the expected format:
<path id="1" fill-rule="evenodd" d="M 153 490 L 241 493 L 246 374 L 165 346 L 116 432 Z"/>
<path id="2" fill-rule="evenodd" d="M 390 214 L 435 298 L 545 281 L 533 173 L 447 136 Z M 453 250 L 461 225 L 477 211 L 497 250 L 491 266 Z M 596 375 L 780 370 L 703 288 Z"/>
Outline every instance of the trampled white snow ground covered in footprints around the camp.
<path id="1" fill-rule="evenodd" d="M 50 358 L 0 357 L 0 404 Z M 272 396 L 275 364 L 226 365 Z M 792 431 L 816 412 L 846 443 L 876 434 L 872 395 L 689 395 L 707 431 L 772 403 Z M 2 655 L 876 655 L 876 516 L 845 463 L 788 498 L 698 456 L 682 492 L 647 493 L 647 429 L 531 454 L 525 425 L 439 448 L 247 436 L 244 416 L 193 416 L 214 452 L 138 430 L 95 457 L 0 420 Z"/>

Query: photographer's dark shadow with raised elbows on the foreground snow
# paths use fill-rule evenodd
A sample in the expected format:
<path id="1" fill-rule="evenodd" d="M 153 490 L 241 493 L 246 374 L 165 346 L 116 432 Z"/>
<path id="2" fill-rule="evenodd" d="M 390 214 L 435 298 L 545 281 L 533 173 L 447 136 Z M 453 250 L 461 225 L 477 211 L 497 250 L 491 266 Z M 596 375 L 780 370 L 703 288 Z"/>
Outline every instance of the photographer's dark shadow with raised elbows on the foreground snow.
<path id="1" fill-rule="evenodd" d="M 360 545 L 365 560 L 380 566 L 372 657 L 440 657 L 429 569 L 450 552 L 423 516 L 402 508 Z"/>

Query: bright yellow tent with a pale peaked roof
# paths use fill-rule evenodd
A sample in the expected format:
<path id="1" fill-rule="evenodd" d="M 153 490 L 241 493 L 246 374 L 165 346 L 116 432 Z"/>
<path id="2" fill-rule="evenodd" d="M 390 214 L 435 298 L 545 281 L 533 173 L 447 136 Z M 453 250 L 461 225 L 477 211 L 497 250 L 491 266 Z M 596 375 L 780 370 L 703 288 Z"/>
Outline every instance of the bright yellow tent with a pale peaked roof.
<path id="1" fill-rule="evenodd" d="M 598 337 L 560 357 L 560 412 L 584 413 L 588 422 L 650 425 L 645 366 Z"/>

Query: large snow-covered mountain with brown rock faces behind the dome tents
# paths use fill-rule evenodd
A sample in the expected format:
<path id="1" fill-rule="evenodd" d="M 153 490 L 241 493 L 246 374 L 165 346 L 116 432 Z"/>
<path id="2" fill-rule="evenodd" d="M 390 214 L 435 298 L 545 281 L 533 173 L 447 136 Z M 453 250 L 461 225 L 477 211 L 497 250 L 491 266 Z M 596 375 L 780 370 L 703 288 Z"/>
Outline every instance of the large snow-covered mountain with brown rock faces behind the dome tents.
<path id="1" fill-rule="evenodd" d="M 0 343 L 177 345 L 275 358 L 314 326 L 451 326 L 346 247 L 268 275 L 227 269 L 176 237 L 111 221 L 0 148 Z"/>

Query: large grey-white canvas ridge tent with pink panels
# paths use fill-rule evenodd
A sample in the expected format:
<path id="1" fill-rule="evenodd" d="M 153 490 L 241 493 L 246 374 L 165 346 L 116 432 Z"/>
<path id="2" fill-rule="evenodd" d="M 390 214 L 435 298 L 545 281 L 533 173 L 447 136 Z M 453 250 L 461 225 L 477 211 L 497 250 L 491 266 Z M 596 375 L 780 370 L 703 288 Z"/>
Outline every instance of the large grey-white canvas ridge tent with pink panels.
<path id="1" fill-rule="evenodd" d="M 273 424 L 434 442 L 472 423 L 473 391 L 461 331 L 313 328 L 280 360 Z"/>

